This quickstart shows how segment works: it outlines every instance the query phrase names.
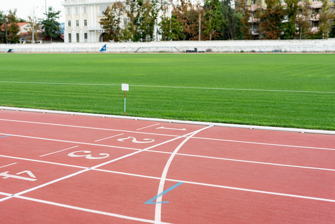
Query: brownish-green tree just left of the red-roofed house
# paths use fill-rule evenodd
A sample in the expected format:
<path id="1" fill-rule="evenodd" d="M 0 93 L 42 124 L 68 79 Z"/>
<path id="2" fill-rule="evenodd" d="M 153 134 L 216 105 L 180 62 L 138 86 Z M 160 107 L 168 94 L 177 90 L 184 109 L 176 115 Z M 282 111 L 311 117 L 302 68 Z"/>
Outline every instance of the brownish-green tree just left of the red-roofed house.
<path id="1" fill-rule="evenodd" d="M 17 34 L 20 29 L 17 25 L 16 9 L 9 10 L 4 26 L 6 32 L 6 43 L 18 43 L 19 36 Z"/>

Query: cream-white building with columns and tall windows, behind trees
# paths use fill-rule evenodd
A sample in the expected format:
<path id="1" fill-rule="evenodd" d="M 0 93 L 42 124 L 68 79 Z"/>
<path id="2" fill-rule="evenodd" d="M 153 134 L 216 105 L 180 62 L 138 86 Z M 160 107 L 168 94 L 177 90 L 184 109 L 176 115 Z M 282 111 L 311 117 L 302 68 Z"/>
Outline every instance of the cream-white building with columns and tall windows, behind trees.
<path id="1" fill-rule="evenodd" d="M 104 42 L 103 37 L 105 30 L 100 25 L 100 19 L 104 17 L 103 12 L 107 7 L 115 2 L 117 2 L 117 0 L 62 1 L 65 11 L 64 42 Z M 157 23 L 160 22 L 161 14 L 162 12 L 159 12 Z M 171 16 L 171 10 L 169 10 L 167 14 Z M 125 28 L 126 23 L 127 17 L 125 14 L 122 18 L 121 28 Z M 157 32 L 158 29 L 158 26 L 154 27 L 155 40 L 160 39 Z"/>

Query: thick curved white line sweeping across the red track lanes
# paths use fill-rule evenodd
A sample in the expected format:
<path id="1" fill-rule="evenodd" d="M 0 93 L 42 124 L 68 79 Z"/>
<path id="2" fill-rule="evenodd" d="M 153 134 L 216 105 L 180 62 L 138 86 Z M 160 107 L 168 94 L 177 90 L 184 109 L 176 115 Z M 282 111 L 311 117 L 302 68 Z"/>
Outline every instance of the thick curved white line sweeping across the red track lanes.
<path id="1" fill-rule="evenodd" d="M 164 170 L 163 170 L 163 173 L 162 173 L 162 176 L 160 178 L 160 181 L 159 181 L 159 186 L 158 186 L 158 191 L 157 191 L 157 195 L 161 194 L 163 191 L 164 191 L 164 184 L 165 184 L 165 179 L 166 179 L 166 174 L 167 174 L 167 171 L 169 170 L 169 167 L 170 167 L 170 164 L 173 160 L 173 158 L 175 157 L 176 153 L 178 152 L 178 150 L 192 137 L 194 136 L 195 134 L 199 133 L 200 131 L 202 130 L 205 130 L 207 128 L 210 128 L 211 126 L 207 126 L 207 127 L 204 127 L 202 129 L 199 129 L 195 132 L 193 132 L 193 134 L 189 135 L 187 138 L 184 139 L 184 141 L 182 141 L 182 143 L 180 143 L 177 148 L 173 151 L 173 153 L 170 155 L 170 158 L 169 160 L 167 160 L 166 164 L 165 164 L 165 167 L 164 167 Z M 162 204 L 159 203 L 162 201 L 162 196 L 161 195 L 160 197 L 157 197 L 156 199 L 156 206 L 155 206 L 155 224 L 159 224 L 161 223 L 161 207 L 162 207 Z"/>

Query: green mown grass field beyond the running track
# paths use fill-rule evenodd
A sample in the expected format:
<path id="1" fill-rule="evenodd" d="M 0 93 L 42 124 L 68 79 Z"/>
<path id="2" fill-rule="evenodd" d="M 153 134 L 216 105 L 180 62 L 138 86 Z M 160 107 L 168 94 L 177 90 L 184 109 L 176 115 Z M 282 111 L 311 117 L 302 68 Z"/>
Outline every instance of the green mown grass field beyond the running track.
<path id="1" fill-rule="evenodd" d="M 335 130 L 335 54 L 0 54 L 0 105 Z"/>

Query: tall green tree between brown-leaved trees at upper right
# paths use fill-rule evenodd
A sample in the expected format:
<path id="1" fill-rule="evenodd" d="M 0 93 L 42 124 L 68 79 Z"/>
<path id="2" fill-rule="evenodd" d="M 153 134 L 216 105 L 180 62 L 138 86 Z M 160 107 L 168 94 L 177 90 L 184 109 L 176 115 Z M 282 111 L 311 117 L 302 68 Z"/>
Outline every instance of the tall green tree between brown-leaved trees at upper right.
<path id="1" fill-rule="evenodd" d="M 294 39 L 297 32 L 296 24 L 299 14 L 299 0 L 285 0 L 285 16 L 287 16 L 287 21 L 283 23 L 283 39 Z"/>

